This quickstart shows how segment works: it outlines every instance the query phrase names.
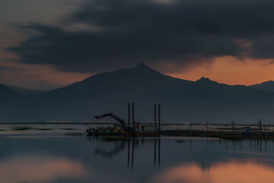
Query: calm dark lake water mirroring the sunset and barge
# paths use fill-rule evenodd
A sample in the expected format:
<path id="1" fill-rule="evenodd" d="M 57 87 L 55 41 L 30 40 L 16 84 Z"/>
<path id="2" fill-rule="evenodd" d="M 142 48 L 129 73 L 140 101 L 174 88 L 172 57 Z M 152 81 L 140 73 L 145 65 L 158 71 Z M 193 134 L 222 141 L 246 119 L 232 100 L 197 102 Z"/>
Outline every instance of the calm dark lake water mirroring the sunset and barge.
<path id="1" fill-rule="evenodd" d="M 0 125 L 0 182 L 273 182 L 273 141 L 104 138 L 87 125 Z"/>

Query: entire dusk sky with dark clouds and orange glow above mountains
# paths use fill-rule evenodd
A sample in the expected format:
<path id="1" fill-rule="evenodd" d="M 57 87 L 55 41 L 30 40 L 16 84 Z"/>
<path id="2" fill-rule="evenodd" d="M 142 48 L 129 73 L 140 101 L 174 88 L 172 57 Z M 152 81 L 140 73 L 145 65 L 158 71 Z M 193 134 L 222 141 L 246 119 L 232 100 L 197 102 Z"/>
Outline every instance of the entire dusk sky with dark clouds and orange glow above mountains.
<path id="1" fill-rule="evenodd" d="M 144 62 L 186 80 L 274 80 L 271 0 L 1 0 L 0 83 L 49 90 Z"/>

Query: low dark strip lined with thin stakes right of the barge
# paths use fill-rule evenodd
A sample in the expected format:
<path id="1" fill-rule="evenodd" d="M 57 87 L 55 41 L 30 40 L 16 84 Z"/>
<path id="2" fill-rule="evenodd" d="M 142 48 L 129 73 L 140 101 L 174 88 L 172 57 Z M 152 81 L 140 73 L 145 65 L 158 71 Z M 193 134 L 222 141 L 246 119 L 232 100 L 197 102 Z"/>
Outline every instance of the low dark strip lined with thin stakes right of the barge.
<path id="1" fill-rule="evenodd" d="M 155 125 L 154 123 L 142 123 Z M 112 123 L 92 123 L 93 127 L 105 127 Z M 204 124 L 204 123 L 161 123 L 161 136 L 199 136 L 227 138 L 231 140 L 243 139 L 274 139 L 274 125 L 248 124 Z"/>

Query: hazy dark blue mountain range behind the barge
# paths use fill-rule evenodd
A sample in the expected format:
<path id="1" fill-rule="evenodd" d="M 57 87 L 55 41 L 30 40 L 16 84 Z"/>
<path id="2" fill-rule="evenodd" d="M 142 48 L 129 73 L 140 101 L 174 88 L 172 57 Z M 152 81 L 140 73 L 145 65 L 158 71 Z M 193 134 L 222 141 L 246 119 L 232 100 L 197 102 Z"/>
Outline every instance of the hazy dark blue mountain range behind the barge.
<path id="1" fill-rule="evenodd" d="M 153 104 L 161 103 L 163 123 L 274 123 L 274 82 L 231 86 L 206 77 L 192 82 L 145 64 L 54 90 L 20 90 L 0 84 L 1 122 L 95 122 L 95 115 L 106 112 L 127 121 L 127 103 L 134 101 L 135 121 L 141 122 L 154 121 Z"/>

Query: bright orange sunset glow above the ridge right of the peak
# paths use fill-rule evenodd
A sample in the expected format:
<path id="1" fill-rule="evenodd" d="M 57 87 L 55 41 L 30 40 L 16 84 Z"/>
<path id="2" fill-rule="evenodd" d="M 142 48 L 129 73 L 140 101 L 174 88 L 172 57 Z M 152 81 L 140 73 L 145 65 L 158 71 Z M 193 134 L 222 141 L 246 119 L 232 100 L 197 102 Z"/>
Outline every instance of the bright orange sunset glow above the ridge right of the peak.
<path id="1" fill-rule="evenodd" d="M 184 80 L 199 80 L 200 77 L 209 77 L 224 84 L 258 84 L 274 80 L 273 60 L 239 60 L 231 56 L 214 58 L 212 64 L 190 66 L 181 73 L 167 73 Z"/>

